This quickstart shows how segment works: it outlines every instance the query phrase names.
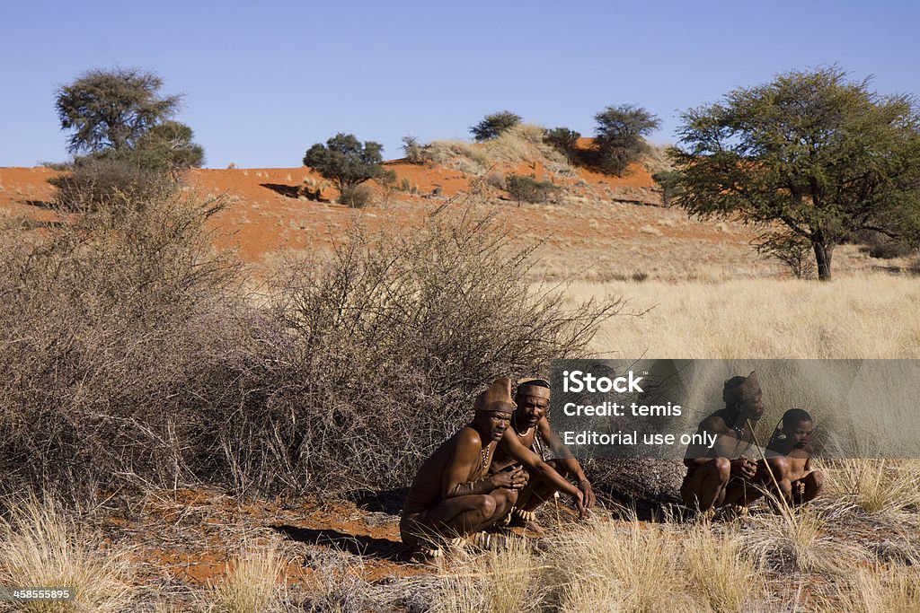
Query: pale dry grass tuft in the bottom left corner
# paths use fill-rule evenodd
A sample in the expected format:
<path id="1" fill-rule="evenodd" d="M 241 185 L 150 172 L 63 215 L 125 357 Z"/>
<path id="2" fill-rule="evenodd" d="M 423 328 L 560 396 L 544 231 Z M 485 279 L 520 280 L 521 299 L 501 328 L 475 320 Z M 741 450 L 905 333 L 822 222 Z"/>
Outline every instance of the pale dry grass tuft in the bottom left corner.
<path id="1" fill-rule="evenodd" d="M 19 603 L 17 610 L 117 613 L 132 602 L 127 551 L 102 548 L 53 500 L 31 497 L 0 519 L 0 585 L 75 589 L 72 601 Z"/>

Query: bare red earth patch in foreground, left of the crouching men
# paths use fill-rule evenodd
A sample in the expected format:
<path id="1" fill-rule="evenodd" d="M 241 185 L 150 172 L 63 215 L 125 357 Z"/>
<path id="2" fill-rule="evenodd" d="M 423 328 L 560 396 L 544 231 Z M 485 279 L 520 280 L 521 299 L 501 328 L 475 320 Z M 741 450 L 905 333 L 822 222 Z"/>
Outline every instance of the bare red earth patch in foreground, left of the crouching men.
<path id="1" fill-rule="evenodd" d="M 293 532 L 278 531 L 278 527 Z M 287 583 L 311 589 L 321 587 L 316 573 L 330 569 L 317 566 L 303 552 L 340 549 L 350 551 L 343 554 L 348 556 L 354 554 L 354 543 L 365 543 L 377 551 L 376 555 L 355 557 L 348 565 L 348 572 L 358 573 L 364 581 L 431 573 L 395 559 L 403 549 L 398 517 L 368 513 L 349 503 L 240 503 L 223 494 L 178 490 L 150 494 L 139 517 L 128 520 L 112 514 L 101 521 L 101 528 L 109 539 L 134 547 L 131 558 L 138 569 L 136 578 L 143 583 L 164 577 L 190 585 L 213 583 L 232 567 L 244 544 L 271 542 L 281 545 L 282 557 L 287 559 Z M 318 560 L 323 560 L 321 554 Z"/>

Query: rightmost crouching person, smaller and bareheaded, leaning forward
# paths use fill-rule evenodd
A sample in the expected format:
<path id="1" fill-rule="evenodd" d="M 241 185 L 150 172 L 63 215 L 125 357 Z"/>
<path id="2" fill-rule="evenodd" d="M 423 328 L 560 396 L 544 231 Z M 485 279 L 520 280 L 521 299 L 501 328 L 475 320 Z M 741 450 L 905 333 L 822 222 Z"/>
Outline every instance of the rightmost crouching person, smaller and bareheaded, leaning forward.
<path id="1" fill-rule="evenodd" d="M 793 505 L 803 505 L 813 500 L 821 492 L 824 483 L 821 472 L 811 470 L 813 430 L 814 421 L 807 411 L 789 409 L 783 414 L 782 426 L 766 446 L 766 461 L 760 460 L 757 463 L 758 481 L 765 482 L 767 487 L 774 490 L 778 485 L 779 491 Z"/>

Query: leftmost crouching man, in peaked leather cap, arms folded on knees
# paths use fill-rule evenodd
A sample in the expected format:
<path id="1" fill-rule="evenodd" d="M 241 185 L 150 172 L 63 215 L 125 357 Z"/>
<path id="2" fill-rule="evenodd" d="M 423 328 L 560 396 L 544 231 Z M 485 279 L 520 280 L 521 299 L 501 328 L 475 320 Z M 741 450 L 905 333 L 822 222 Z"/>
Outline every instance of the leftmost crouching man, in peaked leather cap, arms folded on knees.
<path id="1" fill-rule="evenodd" d="M 416 473 L 399 534 L 421 556 L 439 557 L 444 542 L 489 528 L 511 511 L 526 484 L 521 470 L 489 475 L 492 454 L 515 408 L 511 392 L 511 380 L 495 380 L 477 397 L 473 421 L 437 448 Z M 482 535 L 480 544 L 488 547 L 491 536 Z"/>

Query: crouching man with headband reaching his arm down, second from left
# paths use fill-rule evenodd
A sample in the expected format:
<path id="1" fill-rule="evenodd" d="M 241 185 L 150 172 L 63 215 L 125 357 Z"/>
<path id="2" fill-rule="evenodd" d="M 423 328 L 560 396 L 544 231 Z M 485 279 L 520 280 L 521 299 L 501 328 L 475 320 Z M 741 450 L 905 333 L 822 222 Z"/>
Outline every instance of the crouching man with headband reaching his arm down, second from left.
<path id="1" fill-rule="evenodd" d="M 578 460 L 562 444 L 546 419 L 549 408 L 549 382 L 542 379 L 521 380 L 514 395 L 517 410 L 512 415 L 512 427 L 505 430 L 495 450 L 490 472 L 523 470 L 527 473 L 527 485 L 518 494 L 517 505 L 512 509 L 509 525 L 522 527 L 540 536 L 543 528 L 536 523 L 534 509 L 542 505 L 556 492 L 571 496 L 579 510 L 579 517 L 585 517 L 586 507 L 594 505 L 591 482 L 584 476 Z M 554 460 L 543 458 L 541 438 L 557 456 Z M 575 479 L 575 487 L 566 477 Z"/>

